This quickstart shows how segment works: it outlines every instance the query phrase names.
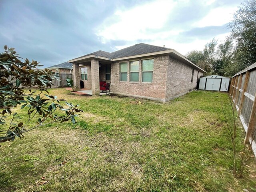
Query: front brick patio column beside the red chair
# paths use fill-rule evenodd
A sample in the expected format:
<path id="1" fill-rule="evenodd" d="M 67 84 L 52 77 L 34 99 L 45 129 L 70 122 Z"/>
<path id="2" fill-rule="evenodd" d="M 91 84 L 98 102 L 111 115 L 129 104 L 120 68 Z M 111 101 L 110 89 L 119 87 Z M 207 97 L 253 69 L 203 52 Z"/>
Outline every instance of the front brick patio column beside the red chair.
<path id="1" fill-rule="evenodd" d="M 92 73 L 92 95 L 100 94 L 100 73 L 99 73 L 99 60 L 91 60 L 91 73 Z"/>

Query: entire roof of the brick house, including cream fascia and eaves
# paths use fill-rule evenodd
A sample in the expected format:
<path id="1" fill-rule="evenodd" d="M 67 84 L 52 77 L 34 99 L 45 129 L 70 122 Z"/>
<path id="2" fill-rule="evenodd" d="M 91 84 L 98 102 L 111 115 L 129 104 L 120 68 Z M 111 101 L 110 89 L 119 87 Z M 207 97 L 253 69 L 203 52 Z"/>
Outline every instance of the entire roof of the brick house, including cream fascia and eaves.
<path id="1" fill-rule="evenodd" d="M 161 54 L 170 54 L 174 58 L 182 60 L 188 65 L 193 66 L 194 68 L 197 68 L 202 72 L 206 72 L 174 49 L 149 45 L 145 43 L 135 44 L 133 46 L 130 46 L 112 53 L 99 50 L 78 58 L 74 58 L 72 60 L 69 60 L 68 62 L 78 62 L 78 61 L 82 62 L 90 58 L 117 61 L 117 60 L 126 60 L 131 58 L 154 56 L 154 55 L 161 55 Z"/>

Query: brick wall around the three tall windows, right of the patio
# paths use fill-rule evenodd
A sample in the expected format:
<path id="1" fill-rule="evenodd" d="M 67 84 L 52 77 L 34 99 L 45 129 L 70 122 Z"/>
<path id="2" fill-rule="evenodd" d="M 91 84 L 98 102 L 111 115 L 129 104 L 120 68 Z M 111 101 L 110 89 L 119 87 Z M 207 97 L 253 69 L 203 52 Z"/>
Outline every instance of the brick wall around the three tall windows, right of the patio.
<path id="1" fill-rule="evenodd" d="M 114 62 L 111 65 L 111 84 L 110 91 L 119 94 L 126 94 L 132 96 L 143 96 L 155 100 L 164 101 L 166 92 L 166 79 L 168 69 L 168 56 L 157 56 L 154 57 L 154 71 L 153 71 L 153 82 L 143 83 L 141 82 L 141 59 L 140 59 L 140 70 L 139 70 L 139 82 L 129 82 L 129 61 L 128 62 L 128 73 L 127 82 L 120 82 L 120 68 L 119 62 Z M 124 61 L 126 62 L 126 61 Z"/>

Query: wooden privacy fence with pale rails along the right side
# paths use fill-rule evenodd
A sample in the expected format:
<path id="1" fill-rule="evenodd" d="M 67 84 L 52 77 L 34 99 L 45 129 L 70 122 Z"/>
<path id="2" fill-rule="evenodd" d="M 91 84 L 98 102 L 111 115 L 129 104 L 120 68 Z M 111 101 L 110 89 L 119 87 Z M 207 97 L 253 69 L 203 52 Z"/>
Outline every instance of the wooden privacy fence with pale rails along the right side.
<path id="1" fill-rule="evenodd" d="M 256 155 L 256 63 L 231 78 L 229 93 Z"/>

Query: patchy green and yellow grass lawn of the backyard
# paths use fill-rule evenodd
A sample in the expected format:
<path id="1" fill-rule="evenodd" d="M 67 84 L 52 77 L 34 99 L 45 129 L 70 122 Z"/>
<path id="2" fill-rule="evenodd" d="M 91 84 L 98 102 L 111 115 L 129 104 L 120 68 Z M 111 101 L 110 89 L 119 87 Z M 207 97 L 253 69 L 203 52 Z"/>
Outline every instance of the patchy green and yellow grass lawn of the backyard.
<path id="1" fill-rule="evenodd" d="M 253 158 L 244 178 L 232 175 L 232 148 L 214 109 L 225 102 L 231 114 L 226 93 L 193 91 L 167 103 L 62 88 L 50 94 L 84 113 L 76 125 L 53 124 L 2 143 L 0 191 L 256 191 Z M 38 185 L 41 177 L 48 182 Z"/>

